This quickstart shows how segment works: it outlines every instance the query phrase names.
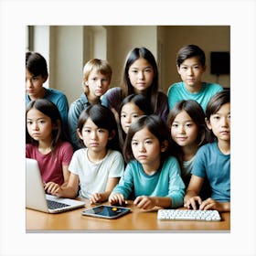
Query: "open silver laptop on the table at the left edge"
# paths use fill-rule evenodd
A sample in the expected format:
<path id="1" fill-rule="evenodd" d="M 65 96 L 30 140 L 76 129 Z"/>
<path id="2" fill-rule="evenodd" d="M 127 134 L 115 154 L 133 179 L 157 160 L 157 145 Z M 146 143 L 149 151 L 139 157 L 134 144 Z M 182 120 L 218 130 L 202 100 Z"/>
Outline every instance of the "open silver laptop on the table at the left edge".
<path id="1" fill-rule="evenodd" d="M 26 158 L 26 208 L 58 213 L 84 206 L 79 200 L 46 194 L 37 160 Z"/>

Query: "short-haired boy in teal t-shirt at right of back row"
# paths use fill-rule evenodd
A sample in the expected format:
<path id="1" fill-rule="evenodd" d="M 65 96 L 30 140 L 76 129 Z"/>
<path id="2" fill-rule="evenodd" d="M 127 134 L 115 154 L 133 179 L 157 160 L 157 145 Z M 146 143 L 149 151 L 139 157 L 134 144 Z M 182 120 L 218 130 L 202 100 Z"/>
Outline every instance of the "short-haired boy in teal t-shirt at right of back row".
<path id="1" fill-rule="evenodd" d="M 206 56 L 204 51 L 195 45 L 187 45 L 178 51 L 176 68 L 182 81 L 174 83 L 167 91 L 170 110 L 177 101 L 195 100 L 205 111 L 209 99 L 223 90 L 217 83 L 202 81 L 202 75 L 207 69 Z"/>

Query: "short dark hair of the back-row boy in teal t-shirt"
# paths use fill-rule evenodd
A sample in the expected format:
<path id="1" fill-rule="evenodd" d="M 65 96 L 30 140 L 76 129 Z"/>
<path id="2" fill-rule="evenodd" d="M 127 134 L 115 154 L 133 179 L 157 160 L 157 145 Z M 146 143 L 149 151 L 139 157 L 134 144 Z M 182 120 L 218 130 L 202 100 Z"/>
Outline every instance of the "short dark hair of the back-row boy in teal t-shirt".
<path id="1" fill-rule="evenodd" d="M 187 45 L 180 48 L 176 55 L 176 65 L 180 67 L 185 59 L 197 57 L 203 67 L 206 65 L 205 52 L 196 45 Z"/>

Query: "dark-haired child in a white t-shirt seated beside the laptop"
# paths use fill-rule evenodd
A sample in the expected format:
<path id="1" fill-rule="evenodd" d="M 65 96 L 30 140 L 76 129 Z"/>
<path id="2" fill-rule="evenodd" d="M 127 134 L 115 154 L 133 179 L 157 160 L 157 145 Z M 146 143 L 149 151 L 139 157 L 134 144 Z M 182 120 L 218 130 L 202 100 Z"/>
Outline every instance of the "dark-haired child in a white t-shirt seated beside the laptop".
<path id="1" fill-rule="evenodd" d="M 110 109 L 101 104 L 89 106 L 80 114 L 78 134 L 86 146 L 77 150 L 69 165 L 67 187 L 52 191 L 59 197 L 106 201 L 123 175 L 123 155 L 117 151 L 117 124 Z M 80 191 L 79 191 L 80 187 Z"/>

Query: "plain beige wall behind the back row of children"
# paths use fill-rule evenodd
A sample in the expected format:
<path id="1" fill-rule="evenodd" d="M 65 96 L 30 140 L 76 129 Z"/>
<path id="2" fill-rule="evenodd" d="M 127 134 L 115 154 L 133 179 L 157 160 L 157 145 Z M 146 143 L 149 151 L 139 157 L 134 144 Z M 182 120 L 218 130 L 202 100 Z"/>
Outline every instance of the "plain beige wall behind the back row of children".
<path id="1" fill-rule="evenodd" d="M 36 26 L 33 41 L 31 50 L 46 54 L 48 86 L 63 91 L 69 104 L 82 93 L 82 69 L 89 59 L 107 59 L 113 71 L 111 87 L 118 86 L 126 56 L 134 47 L 154 54 L 162 91 L 180 80 L 176 52 L 187 44 L 197 44 L 206 53 L 203 80 L 230 86 L 229 75 L 218 78 L 209 67 L 210 51 L 230 51 L 229 26 Z"/>

